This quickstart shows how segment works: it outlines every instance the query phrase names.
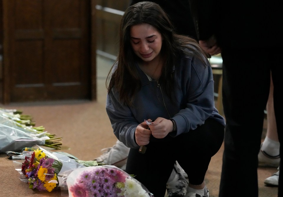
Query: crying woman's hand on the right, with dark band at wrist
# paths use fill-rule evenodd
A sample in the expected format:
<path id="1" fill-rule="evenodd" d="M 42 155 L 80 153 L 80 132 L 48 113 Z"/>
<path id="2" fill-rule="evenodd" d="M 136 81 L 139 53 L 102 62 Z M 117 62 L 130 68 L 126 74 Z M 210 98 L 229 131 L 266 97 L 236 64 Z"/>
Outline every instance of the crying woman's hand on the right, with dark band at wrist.
<path id="1" fill-rule="evenodd" d="M 159 139 L 166 137 L 173 130 L 172 121 L 161 117 L 158 117 L 148 126 L 153 137 Z"/>

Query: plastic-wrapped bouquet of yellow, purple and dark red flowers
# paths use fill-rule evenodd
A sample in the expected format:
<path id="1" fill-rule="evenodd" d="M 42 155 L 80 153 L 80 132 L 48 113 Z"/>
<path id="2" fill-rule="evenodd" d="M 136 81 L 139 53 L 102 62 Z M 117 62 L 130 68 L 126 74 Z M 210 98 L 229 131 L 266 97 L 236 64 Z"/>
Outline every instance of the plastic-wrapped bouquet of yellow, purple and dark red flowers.
<path id="1" fill-rule="evenodd" d="M 23 151 L 22 155 L 12 156 L 20 179 L 27 181 L 29 188 L 49 191 L 60 187 L 68 190 L 66 180 L 75 169 L 99 165 L 96 161 L 71 159 L 65 154 L 47 151 L 39 146 L 34 151 Z"/>

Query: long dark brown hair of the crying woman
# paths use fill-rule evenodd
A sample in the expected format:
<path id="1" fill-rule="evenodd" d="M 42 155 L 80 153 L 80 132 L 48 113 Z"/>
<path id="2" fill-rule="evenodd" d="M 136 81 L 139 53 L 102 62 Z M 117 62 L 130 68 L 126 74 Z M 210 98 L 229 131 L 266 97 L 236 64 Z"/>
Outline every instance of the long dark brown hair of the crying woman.
<path id="1" fill-rule="evenodd" d="M 115 91 L 119 92 L 121 102 L 129 106 L 132 104 L 136 92 L 141 88 L 141 81 L 135 65 L 139 61 L 139 57 L 131 47 L 130 28 L 143 23 L 155 27 L 162 35 L 163 41 L 160 53 L 164 60 L 164 65 L 159 78 L 159 84 L 170 98 L 170 92 L 172 92 L 175 84 L 172 67 L 173 65 L 177 66 L 176 62 L 180 58 L 180 54 L 193 55 L 204 64 L 209 64 L 204 60 L 204 57 L 207 57 L 207 55 L 200 48 L 197 41 L 175 33 L 170 19 L 158 4 L 142 1 L 130 6 L 126 9 L 120 24 L 117 69 L 111 73 L 112 67 L 106 80 L 108 92 L 114 87 Z"/>

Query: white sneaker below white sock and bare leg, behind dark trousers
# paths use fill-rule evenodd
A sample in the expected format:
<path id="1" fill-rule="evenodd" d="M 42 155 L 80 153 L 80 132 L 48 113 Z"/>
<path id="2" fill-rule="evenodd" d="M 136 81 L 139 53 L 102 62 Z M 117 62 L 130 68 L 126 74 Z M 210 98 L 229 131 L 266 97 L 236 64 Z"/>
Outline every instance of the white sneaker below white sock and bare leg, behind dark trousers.
<path id="1" fill-rule="evenodd" d="M 258 154 L 260 167 L 274 167 L 277 168 L 280 165 L 280 155 L 271 156 L 265 151 L 261 150 Z"/>

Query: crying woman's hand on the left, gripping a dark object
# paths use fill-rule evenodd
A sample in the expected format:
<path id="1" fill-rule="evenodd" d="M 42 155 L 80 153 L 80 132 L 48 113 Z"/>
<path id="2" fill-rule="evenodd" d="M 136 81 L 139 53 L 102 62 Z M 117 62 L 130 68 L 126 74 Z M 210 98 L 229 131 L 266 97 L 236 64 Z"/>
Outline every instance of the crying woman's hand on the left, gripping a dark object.
<path id="1" fill-rule="evenodd" d="M 142 122 L 136 127 L 135 137 L 136 137 L 136 143 L 139 146 L 149 144 L 149 138 L 151 135 L 151 131 L 147 129 L 147 127 L 148 125 L 146 122 Z"/>

